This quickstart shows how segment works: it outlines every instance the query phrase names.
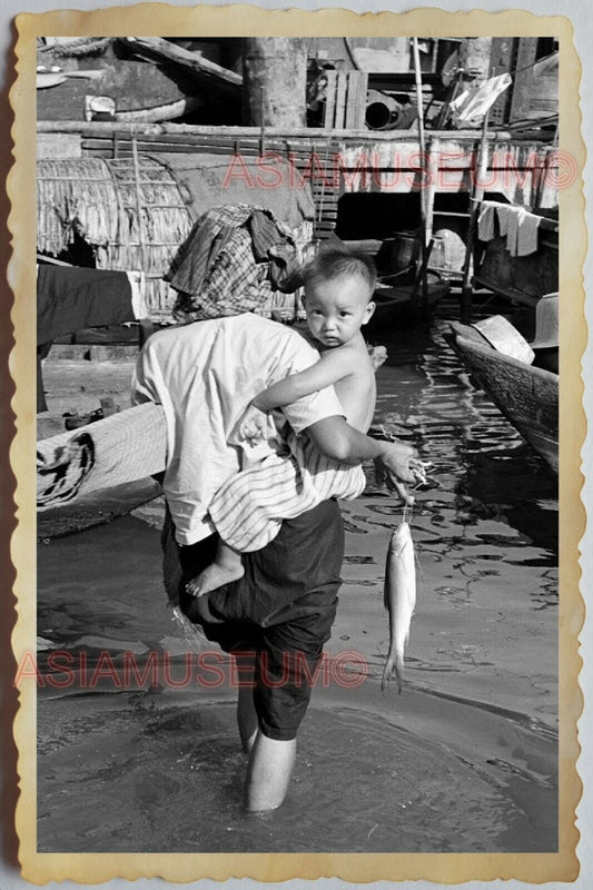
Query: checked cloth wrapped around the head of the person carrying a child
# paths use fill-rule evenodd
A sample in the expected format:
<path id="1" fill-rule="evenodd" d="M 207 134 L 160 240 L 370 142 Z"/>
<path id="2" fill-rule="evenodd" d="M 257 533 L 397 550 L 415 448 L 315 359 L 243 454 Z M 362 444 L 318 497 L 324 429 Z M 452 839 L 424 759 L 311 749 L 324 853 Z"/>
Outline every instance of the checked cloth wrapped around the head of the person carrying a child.
<path id="1" fill-rule="evenodd" d="M 245 204 L 202 214 L 165 278 L 179 294 L 172 315 L 184 324 L 254 312 L 302 283 L 290 229 L 271 210 Z"/>

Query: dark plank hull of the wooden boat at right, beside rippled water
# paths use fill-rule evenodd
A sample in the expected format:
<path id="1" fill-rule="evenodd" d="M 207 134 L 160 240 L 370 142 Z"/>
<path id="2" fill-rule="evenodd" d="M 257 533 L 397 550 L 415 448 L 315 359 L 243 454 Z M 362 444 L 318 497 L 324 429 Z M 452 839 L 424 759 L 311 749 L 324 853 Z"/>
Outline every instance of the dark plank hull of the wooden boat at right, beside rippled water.
<path id="1" fill-rule="evenodd" d="M 473 327 L 451 322 L 447 339 L 474 380 L 547 465 L 559 472 L 559 376 L 494 349 Z"/>

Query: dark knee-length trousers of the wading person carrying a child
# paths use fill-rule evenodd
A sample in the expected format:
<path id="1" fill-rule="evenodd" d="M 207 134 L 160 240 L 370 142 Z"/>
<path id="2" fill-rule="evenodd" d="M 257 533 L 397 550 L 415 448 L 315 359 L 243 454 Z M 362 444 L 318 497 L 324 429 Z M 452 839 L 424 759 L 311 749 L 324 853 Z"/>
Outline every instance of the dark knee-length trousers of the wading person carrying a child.
<path id="1" fill-rule="evenodd" d="M 254 704 L 270 739 L 296 736 L 336 616 L 344 526 L 335 501 L 287 520 L 264 550 L 244 555 L 245 576 L 194 597 L 186 582 L 215 557 L 217 536 L 179 547 L 179 604 L 226 652 L 254 653 Z"/>

